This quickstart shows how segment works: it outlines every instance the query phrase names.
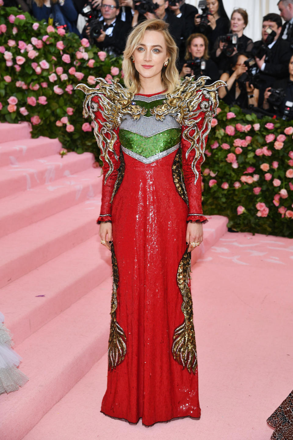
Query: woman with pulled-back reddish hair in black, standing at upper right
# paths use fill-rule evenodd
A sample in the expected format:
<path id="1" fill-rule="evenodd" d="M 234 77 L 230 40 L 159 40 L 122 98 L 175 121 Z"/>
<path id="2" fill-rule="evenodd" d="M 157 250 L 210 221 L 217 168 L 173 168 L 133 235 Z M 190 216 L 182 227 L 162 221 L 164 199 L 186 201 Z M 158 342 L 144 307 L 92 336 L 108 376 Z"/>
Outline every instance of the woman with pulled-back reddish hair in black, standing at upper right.
<path id="1" fill-rule="evenodd" d="M 218 37 L 211 54 L 213 60 L 217 63 L 220 70 L 225 71 L 229 66 L 229 58 L 237 52 L 250 52 L 253 47 L 253 41 L 243 34 L 248 24 L 248 15 L 245 9 L 237 8 L 232 12 L 230 22 L 230 32 L 238 35 L 238 43 L 234 51 L 227 53 L 227 42 L 221 41 Z"/>

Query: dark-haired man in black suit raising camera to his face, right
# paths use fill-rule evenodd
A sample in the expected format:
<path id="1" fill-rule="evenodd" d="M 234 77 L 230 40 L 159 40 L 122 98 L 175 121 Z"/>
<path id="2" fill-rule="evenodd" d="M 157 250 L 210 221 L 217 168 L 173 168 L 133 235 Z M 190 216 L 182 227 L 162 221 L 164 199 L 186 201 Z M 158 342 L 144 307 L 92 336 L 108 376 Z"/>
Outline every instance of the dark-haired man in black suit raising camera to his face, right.
<path id="1" fill-rule="evenodd" d="M 282 30 L 282 18 L 277 14 L 268 14 L 263 18 L 262 40 L 253 44 L 252 55 L 260 70 L 259 106 L 264 100 L 264 91 L 278 79 L 288 77 L 288 63 L 291 58 L 289 44 L 279 38 Z"/>

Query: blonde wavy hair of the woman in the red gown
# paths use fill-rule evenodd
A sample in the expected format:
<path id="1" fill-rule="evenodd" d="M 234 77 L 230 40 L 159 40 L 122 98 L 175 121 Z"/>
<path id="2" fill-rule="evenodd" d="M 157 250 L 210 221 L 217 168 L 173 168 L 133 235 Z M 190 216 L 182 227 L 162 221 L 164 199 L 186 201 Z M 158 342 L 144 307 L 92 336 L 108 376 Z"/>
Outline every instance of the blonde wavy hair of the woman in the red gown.
<path id="1" fill-rule="evenodd" d="M 169 33 L 168 27 L 169 25 L 166 22 L 155 18 L 139 23 L 130 32 L 127 38 L 125 50 L 123 52 L 122 63 L 124 84 L 130 92 L 137 93 L 140 89 L 139 74 L 135 69 L 134 63 L 130 57 L 132 56 L 134 49 L 141 43 L 146 30 L 156 30 L 161 32 L 165 38 L 169 62 L 166 67 L 163 66 L 161 77 L 163 86 L 166 89 L 166 93 L 174 92 L 174 89 L 180 84 L 179 73 L 176 67 L 178 48 Z"/>

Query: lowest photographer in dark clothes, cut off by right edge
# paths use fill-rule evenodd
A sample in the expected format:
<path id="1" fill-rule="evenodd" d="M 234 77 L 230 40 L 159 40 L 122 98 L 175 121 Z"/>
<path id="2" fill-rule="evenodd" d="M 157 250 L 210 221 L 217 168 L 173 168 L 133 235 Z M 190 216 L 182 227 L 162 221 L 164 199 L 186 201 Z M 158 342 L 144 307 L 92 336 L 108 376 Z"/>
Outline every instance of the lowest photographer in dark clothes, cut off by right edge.
<path id="1" fill-rule="evenodd" d="M 293 55 L 289 62 L 289 79 L 278 80 L 264 92 L 263 109 L 283 119 L 293 119 Z"/>

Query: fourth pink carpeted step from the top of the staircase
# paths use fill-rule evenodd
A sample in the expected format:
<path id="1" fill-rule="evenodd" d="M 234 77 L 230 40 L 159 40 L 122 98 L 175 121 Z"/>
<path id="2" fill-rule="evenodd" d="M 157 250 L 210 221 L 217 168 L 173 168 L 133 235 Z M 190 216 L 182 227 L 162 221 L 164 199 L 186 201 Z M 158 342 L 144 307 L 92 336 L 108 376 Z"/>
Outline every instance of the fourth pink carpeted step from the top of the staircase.
<path id="1" fill-rule="evenodd" d="M 0 199 L 0 237 L 84 200 L 99 198 L 102 184 L 100 174 L 101 169 L 88 168 L 53 183 Z"/>

